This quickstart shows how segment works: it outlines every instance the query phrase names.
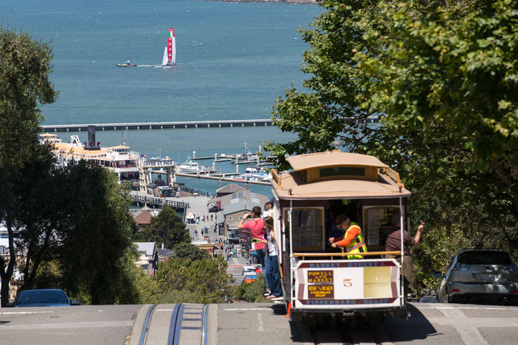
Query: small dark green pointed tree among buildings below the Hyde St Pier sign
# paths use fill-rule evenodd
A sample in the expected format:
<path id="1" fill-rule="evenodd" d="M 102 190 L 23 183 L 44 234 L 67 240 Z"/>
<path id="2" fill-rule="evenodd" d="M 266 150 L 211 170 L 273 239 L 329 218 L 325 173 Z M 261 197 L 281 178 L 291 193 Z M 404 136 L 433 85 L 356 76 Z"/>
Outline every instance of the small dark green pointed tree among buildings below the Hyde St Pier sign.
<path id="1" fill-rule="evenodd" d="M 166 248 L 191 242 L 189 230 L 185 227 L 182 218 L 169 206 L 164 206 L 156 217 L 151 218 L 150 224 L 144 228 L 142 235 L 146 241 L 163 243 Z"/>

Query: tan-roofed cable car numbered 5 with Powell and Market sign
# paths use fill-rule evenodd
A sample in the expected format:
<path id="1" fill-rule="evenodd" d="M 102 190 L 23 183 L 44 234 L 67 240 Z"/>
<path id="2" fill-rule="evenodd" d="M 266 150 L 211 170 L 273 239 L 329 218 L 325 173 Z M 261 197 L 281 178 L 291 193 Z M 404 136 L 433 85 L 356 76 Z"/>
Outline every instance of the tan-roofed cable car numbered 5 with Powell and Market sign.
<path id="1" fill-rule="evenodd" d="M 406 315 L 401 264 L 395 259 L 404 259 L 403 253 L 383 251 L 392 217 L 399 214 L 405 224 L 411 193 L 399 174 L 374 156 L 340 150 L 296 155 L 287 162 L 292 170 L 272 170 L 271 184 L 290 319 Z M 367 247 L 367 253 L 355 254 L 361 258 L 350 259 L 329 244 L 337 213 L 361 227 Z"/>

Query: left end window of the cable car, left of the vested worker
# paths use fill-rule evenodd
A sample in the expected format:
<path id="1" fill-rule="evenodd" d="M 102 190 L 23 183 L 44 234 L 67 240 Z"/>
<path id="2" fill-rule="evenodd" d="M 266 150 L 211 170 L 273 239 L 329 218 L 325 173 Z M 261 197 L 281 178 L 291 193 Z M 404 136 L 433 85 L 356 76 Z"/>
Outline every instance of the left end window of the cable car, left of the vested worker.
<path id="1" fill-rule="evenodd" d="M 288 211 L 285 211 L 286 228 L 289 229 Z M 291 211 L 292 246 L 294 252 L 324 250 L 324 209 L 293 208 Z"/>

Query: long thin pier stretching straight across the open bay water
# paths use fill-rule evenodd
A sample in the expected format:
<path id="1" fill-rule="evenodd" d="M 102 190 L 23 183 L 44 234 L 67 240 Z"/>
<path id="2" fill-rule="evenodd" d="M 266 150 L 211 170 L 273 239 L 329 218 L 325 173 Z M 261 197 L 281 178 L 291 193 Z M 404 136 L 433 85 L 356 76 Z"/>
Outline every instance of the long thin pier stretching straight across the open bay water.
<path id="1" fill-rule="evenodd" d="M 346 120 L 347 121 L 347 120 Z M 351 120 L 358 121 L 358 120 Z M 216 121 L 175 121 L 175 122 L 136 122 L 127 124 L 78 124 L 78 125 L 49 125 L 41 126 L 45 132 L 81 132 L 88 130 L 88 126 L 95 126 L 97 130 L 157 130 L 182 128 L 221 128 L 272 126 L 271 119 L 256 120 L 216 120 Z M 378 122 L 377 116 L 367 117 L 365 123 Z"/>

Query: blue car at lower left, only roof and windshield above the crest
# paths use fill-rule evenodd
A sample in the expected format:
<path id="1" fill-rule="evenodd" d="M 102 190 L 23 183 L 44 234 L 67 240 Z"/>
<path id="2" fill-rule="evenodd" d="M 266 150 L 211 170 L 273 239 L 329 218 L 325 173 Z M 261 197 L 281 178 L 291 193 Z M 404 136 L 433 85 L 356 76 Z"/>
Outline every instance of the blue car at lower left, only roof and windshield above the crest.
<path id="1" fill-rule="evenodd" d="M 68 299 L 64 290 L 59 288 L 41 288 L 35 290 L 23 290 L 16 297 L 15 302 L 6 306 L 80 306 L 77 299 Z"/>

